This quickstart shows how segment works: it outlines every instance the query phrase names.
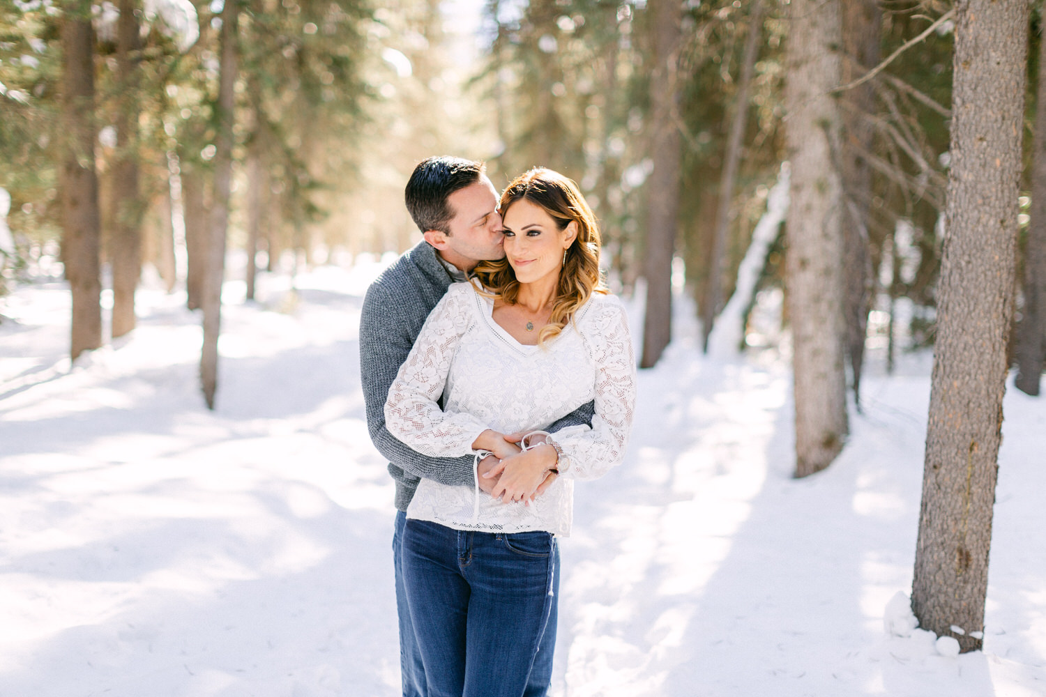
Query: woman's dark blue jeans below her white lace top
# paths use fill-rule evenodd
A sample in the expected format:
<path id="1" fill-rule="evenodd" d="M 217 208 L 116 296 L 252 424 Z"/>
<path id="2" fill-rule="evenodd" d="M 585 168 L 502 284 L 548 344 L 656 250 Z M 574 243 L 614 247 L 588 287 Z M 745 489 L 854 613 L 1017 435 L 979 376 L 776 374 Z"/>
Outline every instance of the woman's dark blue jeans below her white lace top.
<path id="1" fill-rule="evenodd" d="M 427 697 L 547 693 L 559 565 L 551 534 L 407 520 L 401 554 Z"/>

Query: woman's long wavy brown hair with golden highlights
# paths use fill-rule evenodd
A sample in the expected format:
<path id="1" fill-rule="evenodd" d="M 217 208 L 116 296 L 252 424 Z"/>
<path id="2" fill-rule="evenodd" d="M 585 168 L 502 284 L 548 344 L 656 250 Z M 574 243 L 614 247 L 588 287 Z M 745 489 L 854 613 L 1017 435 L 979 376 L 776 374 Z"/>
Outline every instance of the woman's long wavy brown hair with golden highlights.
<path id="1" fill-rule="evenodd" d="M 538 333 L 538 344 L 543 345 L 563 331 L 593 293 L 607 292 L 599 275 L 599 227 L 577 185 L 551 169 L 537 167 L 514 179 L 501 194 L 501 215 L 504 216 L 514 203 L 524 199 L 541 206 L 561 231 L 571 220 L 577 224 L 577 236 L 566 250 L 563 269 L 560 270 L 552 313 L 548 324 Z M 481 261 L 474 273 L 496 297 L 516 303 L 520 284 L 507 259 Z"/>

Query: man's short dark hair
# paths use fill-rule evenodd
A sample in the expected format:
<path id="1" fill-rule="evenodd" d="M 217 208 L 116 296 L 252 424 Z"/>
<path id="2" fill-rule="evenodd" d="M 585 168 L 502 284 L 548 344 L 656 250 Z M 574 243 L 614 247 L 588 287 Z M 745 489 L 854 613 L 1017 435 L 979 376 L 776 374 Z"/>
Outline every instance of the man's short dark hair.
<path id="1" fill-rule="evenodd" d="M 482 162 L 447 156 L 429 158 L 414 167 L 404 199 L 418 230 L 439 230 L 449 234 L 447 224 L 454 217 L 454 211 L 447 199 L 458 189 L 478 182 L 485 171 L 486 165 Z"/>

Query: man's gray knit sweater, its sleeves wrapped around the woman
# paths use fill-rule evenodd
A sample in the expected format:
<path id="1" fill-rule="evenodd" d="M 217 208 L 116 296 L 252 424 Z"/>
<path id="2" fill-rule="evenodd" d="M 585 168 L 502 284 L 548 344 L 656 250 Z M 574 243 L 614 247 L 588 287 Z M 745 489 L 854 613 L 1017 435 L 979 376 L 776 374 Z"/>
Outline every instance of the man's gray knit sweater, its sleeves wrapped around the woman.
<path id="1" fill-rule="evenodd" d="M 429 458 L 407 447 L 385 427 L 385 399 L 400 366 L 426 318 L 452 282 L 436 250 L 418 242 L 382 272 L 363 300 L 360 315 L 360 380 L 367 405 L 367 428 L 379 452 L 389 460 L 395 480 L 395 507 L 406 511 L 420 478 L 451 486 L 472 486 L 473 459 Z M 593 404 L 582 406 L 547 427 L 550 433 L 592 422 Z"/>

